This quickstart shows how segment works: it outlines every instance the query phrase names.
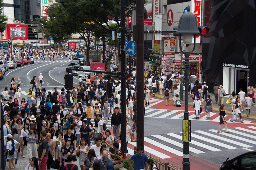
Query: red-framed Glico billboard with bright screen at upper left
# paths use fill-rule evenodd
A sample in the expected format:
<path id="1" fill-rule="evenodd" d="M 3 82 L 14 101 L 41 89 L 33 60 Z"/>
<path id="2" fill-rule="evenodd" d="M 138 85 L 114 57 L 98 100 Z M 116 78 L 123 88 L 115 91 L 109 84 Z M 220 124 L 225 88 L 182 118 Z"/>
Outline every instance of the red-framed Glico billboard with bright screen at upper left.
<path id="1" fill-rule="evenodd" d="M 22 40 L 22 37 L 25 36 L 24 40 L 28 40 L 28 25 L 25 24 L 7 24 L 7 35 L 8 40 L 12 36 L 13 40 Z"/>

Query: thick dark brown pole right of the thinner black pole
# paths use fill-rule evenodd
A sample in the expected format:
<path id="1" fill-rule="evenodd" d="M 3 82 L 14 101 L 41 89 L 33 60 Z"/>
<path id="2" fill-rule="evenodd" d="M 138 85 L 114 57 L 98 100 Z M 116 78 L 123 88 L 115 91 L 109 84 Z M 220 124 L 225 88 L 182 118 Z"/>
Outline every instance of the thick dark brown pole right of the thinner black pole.
<path id="1" fill-rule="evenodd" d="M 137 27 L 137 147 L 144 150 L 144 1 L 136 0 Z"/>

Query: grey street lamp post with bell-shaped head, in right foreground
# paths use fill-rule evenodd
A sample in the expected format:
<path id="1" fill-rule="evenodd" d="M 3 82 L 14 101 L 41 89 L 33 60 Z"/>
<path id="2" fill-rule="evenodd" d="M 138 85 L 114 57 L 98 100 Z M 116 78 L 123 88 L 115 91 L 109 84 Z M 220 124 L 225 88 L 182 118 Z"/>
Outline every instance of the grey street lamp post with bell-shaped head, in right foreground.
<path id="1" fill-rule="evenodd" d="M 185 109 L 184 109 L 184 120 L 188 120 L 188 72 L 189 72 L 189 56 L 195 49 L 195 36 L 199 34 L 197 19 L 195 14 L 190 12 L 190 6 L 187 6 L 187 12 L 182 14 L 179 21 L 179 26 L 177 32 L 179 34 L 179 46 L 180 51 L 185 54 Z M 181 46 L 181 36 L 183 36 L 184 44 L 191 44 L 194 36 L 194 49 L 191 52 L 183 52 Z M 182 63 L 181 63 L 182 64 Z M 181 77 L 182 79 L 182 77 Z M 180 79 L 180 80 L 181 80 Z M 182 82 L 184 83 L 184 82 Z M 182 89 L 181 89 L 182 90 Z M 183 141 L 183 161 L 182 161 L 183 169 L 190 169 L 190 161 L 189 161 L 189 142 Z"/>

